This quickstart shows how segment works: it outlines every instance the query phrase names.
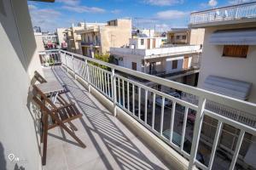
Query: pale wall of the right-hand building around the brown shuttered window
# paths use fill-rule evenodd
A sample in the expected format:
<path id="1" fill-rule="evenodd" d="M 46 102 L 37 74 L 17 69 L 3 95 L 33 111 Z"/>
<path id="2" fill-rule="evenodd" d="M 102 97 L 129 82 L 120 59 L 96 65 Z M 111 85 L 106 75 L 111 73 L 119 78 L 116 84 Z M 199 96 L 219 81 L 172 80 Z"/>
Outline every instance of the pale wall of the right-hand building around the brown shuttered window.
<path id="1" fill-rule="evenodd" d="M 245 82 L 252 82 L 253 88 L 249 96 L 249 101 L 256 103 L 256 46 L 249 46 L 247 58 L 242 59 L 222 57 L 224 46 L 209 44 L 209 37 L 213 31 L 236 27 L 238 28 L 238 26 L 218 26 L 215 28 L 207 27 L 203 45 L 203 54 L 201 58 L 201 71 L 199 74 L 198 86 L 199 88 L 203 88 L 203 82 L 209 75 L 229 77 Z"/>

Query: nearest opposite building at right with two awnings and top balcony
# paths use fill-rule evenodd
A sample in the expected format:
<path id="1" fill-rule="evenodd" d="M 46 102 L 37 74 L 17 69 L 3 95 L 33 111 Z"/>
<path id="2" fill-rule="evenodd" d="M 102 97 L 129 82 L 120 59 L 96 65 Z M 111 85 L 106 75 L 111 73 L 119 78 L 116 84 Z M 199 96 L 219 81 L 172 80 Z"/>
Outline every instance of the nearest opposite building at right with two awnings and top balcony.
<path id="1" fill-rule="evenodd" d="M 199 88 L 256 103 L 256 17 L 252 15 L 255 5 L 255 2 L 241 3 L 190 15 L 192 29 L 205 29 Z M 255 114 L 230 110 L 230 107 L 214 102 L 208 102 L 206 107 L 256 127 Z M 207 119 L 203 124 L 202 133 L 207 142 L 212 142 L 209 132 L 217 126 L 214 123 L 213 119 Z M 234 151 L 238 130 L 228 126 L 224 129 L 220 148 L 230 154 Z M 252 135 L 245 138 L 246 142 L 241 146 L 240 163 L 244 168 L 255 168 L 256 138 Z"/>

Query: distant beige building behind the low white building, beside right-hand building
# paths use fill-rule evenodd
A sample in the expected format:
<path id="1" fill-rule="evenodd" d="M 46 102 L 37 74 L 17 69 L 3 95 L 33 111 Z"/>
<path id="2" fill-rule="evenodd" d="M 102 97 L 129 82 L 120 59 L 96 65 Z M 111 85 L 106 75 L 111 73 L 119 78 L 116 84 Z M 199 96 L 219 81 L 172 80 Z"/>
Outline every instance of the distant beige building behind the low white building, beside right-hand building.
<path id="1" fill-rule="evenodd" d="M 166 33 L 167 42 L 171 44 L 190 44 L 190 45 L 201 45 L 204 40 L 204 29 L 203 28 L 172 28 L 171 31 Z"/>

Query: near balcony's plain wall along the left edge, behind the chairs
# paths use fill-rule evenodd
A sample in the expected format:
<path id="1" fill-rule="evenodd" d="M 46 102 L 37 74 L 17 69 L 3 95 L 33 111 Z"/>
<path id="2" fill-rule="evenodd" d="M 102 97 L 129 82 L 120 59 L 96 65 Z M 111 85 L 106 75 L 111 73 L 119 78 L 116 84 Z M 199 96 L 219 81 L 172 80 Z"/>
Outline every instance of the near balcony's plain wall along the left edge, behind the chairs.
<path id="1" fill-rule="evenodd" d="M 27 1 L 0 0 L 0 21 L 0 169 L 17 166 L 37 170 L 41 167 L 41 159 L 36 128 L 27 105 L 28 72 L 35 64 L 36 59 L 32 58 L 36 42 Z M 10 162 L 11 153 L 24 161 Z"/>

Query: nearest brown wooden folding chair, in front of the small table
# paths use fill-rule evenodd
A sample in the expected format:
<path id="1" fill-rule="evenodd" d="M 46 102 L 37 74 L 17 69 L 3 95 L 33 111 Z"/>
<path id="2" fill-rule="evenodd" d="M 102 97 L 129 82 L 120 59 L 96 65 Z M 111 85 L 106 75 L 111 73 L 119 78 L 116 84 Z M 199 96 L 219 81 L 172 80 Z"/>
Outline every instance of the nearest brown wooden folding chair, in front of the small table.
<path id="1" fill-rule="evenodd" d="M 43 115 L 43 157 L 42 163 L 46 164 L 46 151 L 47 151 L 47 134 L 48 130 L 54 127 L 62 127 L 67 133 L 69 133 L 73 139 L 75 139 L 81 147 L 85 148 L 85 144 L 69 129 L 64 123 L 73 121 L 82 114 L 74 103 L 65 104 L 57 107 L 36 85 L 33 85 L 33 98 L 39 106 Z M 52 124 L 49 124 L 49 117 L 52 120 Z"/>

